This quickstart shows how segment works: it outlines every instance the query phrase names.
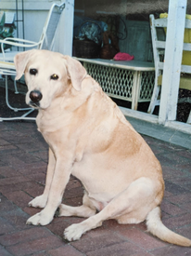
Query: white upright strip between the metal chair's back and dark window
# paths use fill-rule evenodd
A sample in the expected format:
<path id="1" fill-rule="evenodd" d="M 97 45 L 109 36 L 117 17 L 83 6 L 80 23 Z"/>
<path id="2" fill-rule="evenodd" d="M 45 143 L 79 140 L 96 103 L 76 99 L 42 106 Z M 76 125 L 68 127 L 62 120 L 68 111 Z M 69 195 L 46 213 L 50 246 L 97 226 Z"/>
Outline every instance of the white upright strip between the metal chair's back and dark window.
<path id="1" fill-rule="evenodd" d="M 72 55 L 74 0 L 66 0 L 66 6 L 60 19 L 58 29 L 58 51 L 64 55 Z"/>

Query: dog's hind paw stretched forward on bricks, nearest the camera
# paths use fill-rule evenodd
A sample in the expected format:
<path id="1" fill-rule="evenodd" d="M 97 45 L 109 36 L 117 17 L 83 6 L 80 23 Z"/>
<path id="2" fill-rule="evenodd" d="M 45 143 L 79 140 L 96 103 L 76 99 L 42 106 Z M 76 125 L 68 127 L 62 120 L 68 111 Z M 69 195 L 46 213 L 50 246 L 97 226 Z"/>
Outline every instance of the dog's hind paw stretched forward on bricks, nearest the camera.
<path id="1" fill-rule="evenodd" d="M 68 241 L 75 241 L 79 240 L 83 235 L 83 229 L 81 223 L 79 224 L 72 224 L 64 231 L 64 238 Z"/>

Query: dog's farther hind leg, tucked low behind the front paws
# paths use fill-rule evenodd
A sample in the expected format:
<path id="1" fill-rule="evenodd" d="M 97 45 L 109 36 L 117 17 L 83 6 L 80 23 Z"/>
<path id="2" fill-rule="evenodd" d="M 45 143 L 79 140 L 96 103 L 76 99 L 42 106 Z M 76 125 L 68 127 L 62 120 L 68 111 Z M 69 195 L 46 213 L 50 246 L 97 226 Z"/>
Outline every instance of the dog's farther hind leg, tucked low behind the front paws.
<path id="1" fill-rule="evenodd" d="M 80 207 L 70 207 L 64 204 L 59 206 L 58 217 L 61 216 L 78 216 L 78 217 L 91 217 L 96 214 L 96 208 L 92 204 L 86 193 L 83 195 L 83 205 Z"/>

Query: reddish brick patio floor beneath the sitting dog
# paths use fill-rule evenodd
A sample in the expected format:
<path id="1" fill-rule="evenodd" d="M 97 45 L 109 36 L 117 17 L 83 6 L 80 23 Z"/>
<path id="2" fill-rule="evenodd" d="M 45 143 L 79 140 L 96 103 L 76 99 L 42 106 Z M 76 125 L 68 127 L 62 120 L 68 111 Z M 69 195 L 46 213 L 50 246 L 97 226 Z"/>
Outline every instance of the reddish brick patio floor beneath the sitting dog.
<path id="1" fill-rule="evenodd" d="M 162 220 L 191 239 L 191 151 L 144 136 L 163 168 L 166 184 Z M 79 240 L 68 243 L 62 234 L 82 218 L 55 218 L 47 226 L 26 225 L 40 209 L 28 202 L 45 187 L 47 145 L 34 122 L 0 123 L 0 255 L 2 256 L 148 256 L 191 255 L 191 249 L 172 246 L 146 233 L 146 224 L 103 222 Z M 82 204 L 83 188 L 74 177 L 63 201 Z"/>

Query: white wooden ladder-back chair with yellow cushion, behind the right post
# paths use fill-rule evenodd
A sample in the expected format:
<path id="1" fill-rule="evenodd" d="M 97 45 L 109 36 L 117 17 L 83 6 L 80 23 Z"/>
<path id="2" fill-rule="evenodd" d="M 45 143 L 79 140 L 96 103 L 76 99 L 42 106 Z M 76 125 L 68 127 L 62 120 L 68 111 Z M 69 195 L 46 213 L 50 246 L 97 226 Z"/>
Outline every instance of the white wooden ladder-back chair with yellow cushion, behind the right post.
<path id="1" fill-rule="evenodd" d="M 159 93 L 161 89 L 162 82 L 162 71 L 164 64 L 164 52 L 165 52 L 165 41 L 159 40 L 159 34 L 157 32 L 158 28 L 167 28 L 167 20 L 168 18 L 155 19 L 154 15 L 150 15 L 150 29 L 151 29 L 151 38 L 152 38 L 152 46 L 153 46 L 153 55 L 155 61 L 155 86 L 153 89 L 152 98 L 147 110 L 147 113 L 152 114 L 155 107 L 159 105 Z M 191 20 L 185 20 L 185 28 L 191 29 Z M 189 43 L 184 43 L 184 50 L 191 51 L 191 47 Z M 181 66 L 181 79 L 179 88 L 184 88 L 191 90 L 191 65 L 183 65 Z M 191 98 L 181 98 L 178 100 L 179 103 L 189 102 L 191 103 Z M 191 111 L 187 119 L 187 123 L 191 124 Z"/>

